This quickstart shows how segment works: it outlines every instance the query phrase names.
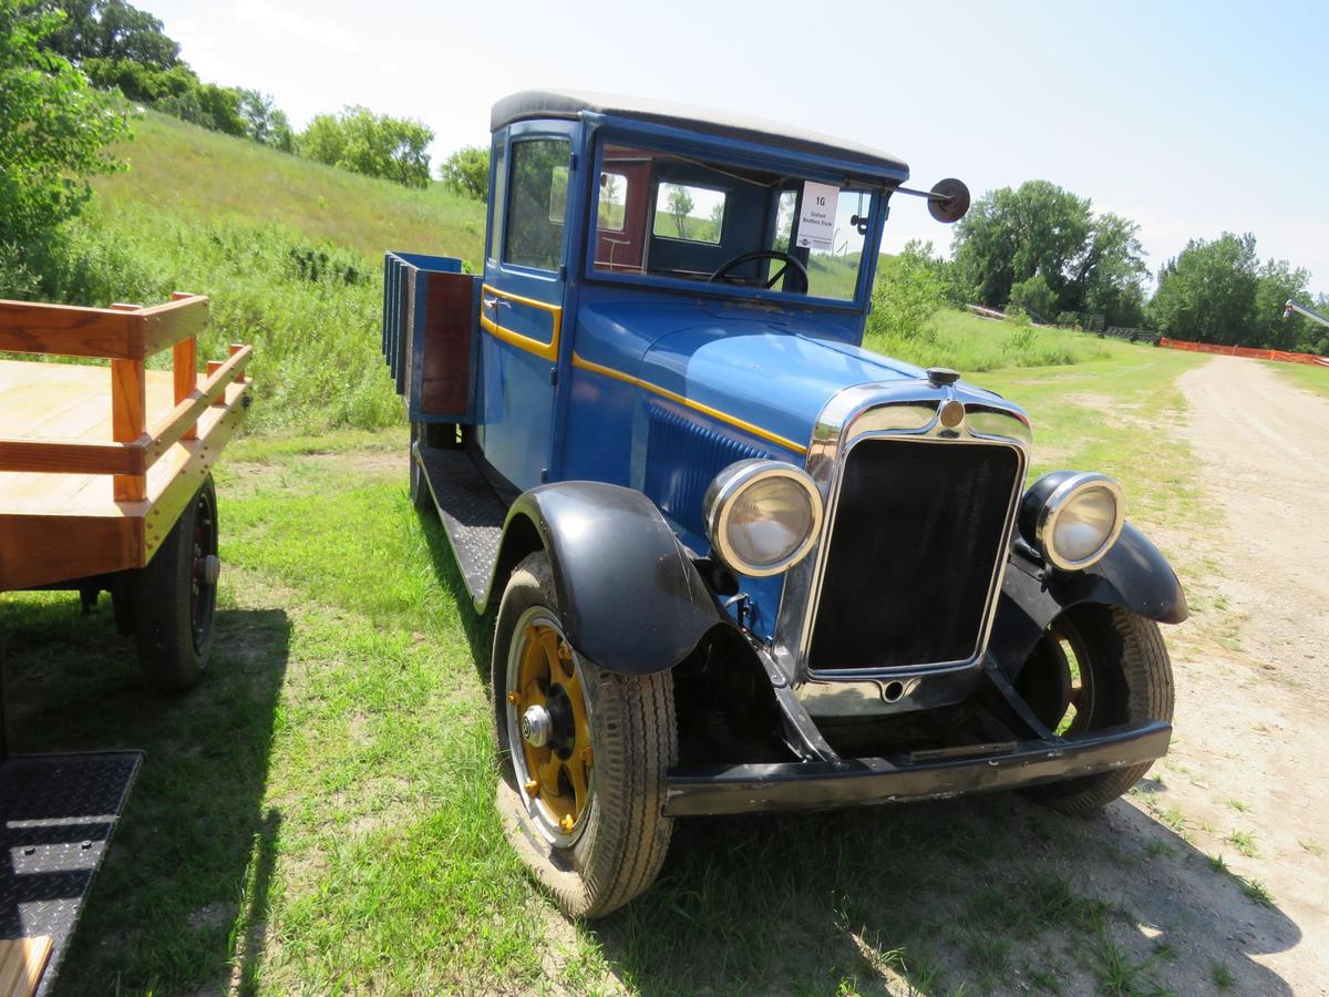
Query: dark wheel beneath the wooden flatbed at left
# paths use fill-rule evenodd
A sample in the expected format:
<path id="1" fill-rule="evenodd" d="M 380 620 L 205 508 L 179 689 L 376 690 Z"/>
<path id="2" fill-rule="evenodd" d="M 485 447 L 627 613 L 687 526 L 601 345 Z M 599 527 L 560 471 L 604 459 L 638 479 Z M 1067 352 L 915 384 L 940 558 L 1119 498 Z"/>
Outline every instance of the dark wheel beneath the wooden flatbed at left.
<path id="1" fill-rule="evenodd" d="M 187 691 L 207 670 L 218 568 L 217 488 L 209 475 L 153 560 L 134 577 L 138 662 L 163 691 Z"/>

